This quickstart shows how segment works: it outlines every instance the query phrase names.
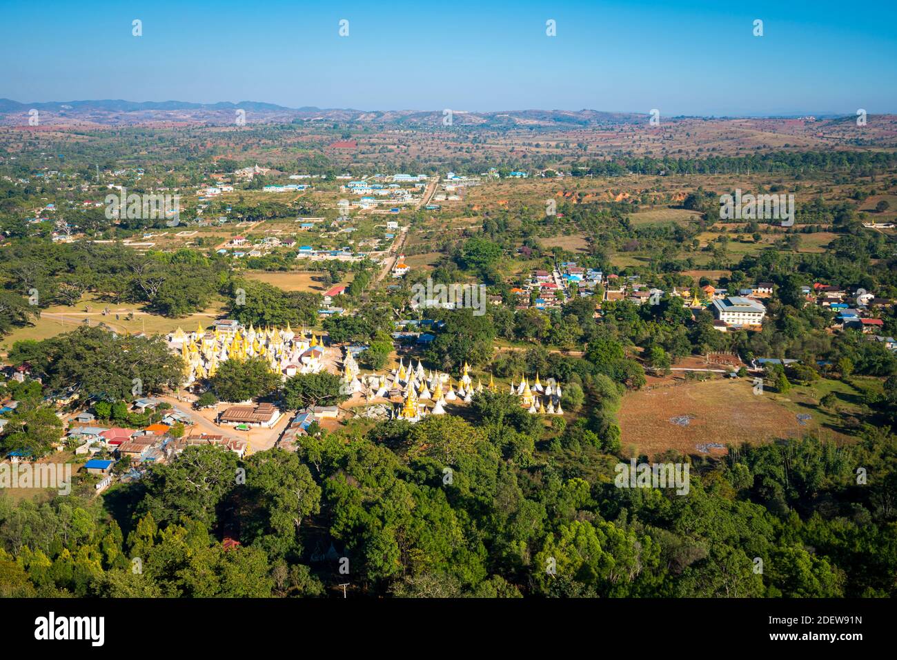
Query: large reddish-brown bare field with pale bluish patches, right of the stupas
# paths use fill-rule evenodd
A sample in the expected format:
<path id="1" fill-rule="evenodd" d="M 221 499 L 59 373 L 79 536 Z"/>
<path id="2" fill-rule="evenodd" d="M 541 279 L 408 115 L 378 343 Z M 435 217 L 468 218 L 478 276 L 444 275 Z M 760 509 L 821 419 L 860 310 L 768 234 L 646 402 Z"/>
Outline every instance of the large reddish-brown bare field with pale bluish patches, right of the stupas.
<path id="1" fill-rule="evenodd" d="M 677 380 L 675 385 L 658 386 L 623 397 L 620 411 L 623 453 L 658 456 L 667 449 L 698 455 L 698 445 L 721 443 L 740 445 L 779 438 L 795 438 L 819 432 L 838 441 L 846 435 L 830 426 L 828 415 L 814 406 L 793 403 L 775 392 L 753 394 L 749 378 L 713 378 L 704 382 Z M 797 414 L 812 419 L 801 424 Z M 688 417 L 687 424 L 671 421 Z M 710 456 L 724 456 L 725 448 L 710 448 Z"/>

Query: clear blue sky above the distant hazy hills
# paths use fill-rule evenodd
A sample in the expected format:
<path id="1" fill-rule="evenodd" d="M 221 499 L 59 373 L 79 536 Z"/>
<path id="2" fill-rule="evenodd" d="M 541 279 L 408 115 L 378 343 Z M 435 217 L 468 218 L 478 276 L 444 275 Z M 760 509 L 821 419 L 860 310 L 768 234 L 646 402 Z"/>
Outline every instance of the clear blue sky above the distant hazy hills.
<path id="1" fill-rule="evenodd" d="M 22 102 L 897 112 L 893 2 L 4 4 L 0 97 Z"/>

